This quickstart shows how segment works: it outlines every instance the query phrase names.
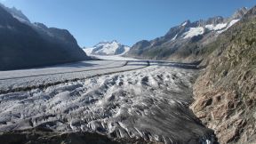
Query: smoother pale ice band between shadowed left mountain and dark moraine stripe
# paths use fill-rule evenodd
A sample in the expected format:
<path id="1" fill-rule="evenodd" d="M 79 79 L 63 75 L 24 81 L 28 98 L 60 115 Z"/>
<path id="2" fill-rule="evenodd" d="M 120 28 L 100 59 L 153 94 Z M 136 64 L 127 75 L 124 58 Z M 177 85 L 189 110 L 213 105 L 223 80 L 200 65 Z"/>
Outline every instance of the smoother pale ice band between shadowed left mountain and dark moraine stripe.
<path id="1" fill-rule="evenodd" d="M 147 61 L 129 61 L 127 64 L 126 61 L 98 60 L 60 65 L 52 68 L 1 71 L 0 93 L 144 68 L 147 65 Z"/>

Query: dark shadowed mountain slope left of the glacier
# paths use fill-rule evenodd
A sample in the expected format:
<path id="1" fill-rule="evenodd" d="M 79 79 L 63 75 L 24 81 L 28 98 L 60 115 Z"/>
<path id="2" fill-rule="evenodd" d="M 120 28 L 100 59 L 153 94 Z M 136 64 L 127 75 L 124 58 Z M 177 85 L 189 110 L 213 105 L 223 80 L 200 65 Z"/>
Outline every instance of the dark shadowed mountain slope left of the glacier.
<path id="1" fill-rule="evenodd" d="M 0 70 L 89 59 L 68 30 L 31 23 L 17 9 L 0 5 Z"/>

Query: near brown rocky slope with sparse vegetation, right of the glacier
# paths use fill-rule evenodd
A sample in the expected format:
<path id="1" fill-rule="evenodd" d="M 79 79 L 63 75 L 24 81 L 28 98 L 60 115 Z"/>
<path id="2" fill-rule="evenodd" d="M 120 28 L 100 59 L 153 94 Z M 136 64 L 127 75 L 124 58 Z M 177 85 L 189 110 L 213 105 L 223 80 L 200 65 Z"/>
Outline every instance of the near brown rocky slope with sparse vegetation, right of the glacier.
<path id="1" fill-rule="evenodd" d="M 256 7 L 204 53 L 207 67 L 194 85 L 196 116 L 220 143 L 256 142 Z"/>

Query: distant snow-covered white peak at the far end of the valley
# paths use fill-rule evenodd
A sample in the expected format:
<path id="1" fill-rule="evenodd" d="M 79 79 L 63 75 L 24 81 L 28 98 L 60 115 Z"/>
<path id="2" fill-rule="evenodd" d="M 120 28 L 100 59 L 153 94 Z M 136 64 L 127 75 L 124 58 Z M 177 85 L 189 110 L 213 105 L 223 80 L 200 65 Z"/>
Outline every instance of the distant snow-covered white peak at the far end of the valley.
<path id="1" fill-rule="evenodd" d="M 123 55 L 129 50 L 129 46 L 120 44 L 116 40 L 112 42 L 100 42 L 92 48 L 84 48 L 84 52 L 92 55 Z"/>

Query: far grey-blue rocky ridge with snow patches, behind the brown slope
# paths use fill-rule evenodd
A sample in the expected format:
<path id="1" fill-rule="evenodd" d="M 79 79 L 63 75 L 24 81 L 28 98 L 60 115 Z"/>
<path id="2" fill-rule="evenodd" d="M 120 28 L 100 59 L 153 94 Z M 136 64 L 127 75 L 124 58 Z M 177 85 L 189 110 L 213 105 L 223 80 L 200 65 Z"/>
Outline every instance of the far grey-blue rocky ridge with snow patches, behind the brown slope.
<path id="1" fill-rule="evenodd" d="M 195 22 L 186 20 L 180 26 L 171 28 L 164 36 L 134 44 L 125 55 L 152 60 L 200 60 L 198 54 L 204 45 L 215 41 L 217 36 L 239 21 L 247 11 L 242 8 L 230 18 L 217 16 Z"/>

